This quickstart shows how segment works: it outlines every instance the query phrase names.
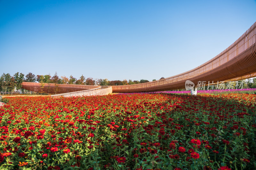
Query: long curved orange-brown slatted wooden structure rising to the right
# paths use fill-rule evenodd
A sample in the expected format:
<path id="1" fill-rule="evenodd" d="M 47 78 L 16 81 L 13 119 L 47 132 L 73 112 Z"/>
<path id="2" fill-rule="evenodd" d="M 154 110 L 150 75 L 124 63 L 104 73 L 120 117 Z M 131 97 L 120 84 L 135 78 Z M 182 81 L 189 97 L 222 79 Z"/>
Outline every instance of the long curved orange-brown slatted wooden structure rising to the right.
<path id="1" fill-rule="evenodd" d="M 256 22 L 231 46 L 211 60 L 192 70 L 157 81 L 132 85 L 112 86 L 112 91 L 117 93 L 132 93 L 184 89 L 185 82 L 187 80 L 192 81 L 194 84 L 197 84 L 198 81 L 205 81 L 207 83 L 209 81 L 210 85 L 212 85 L 216 84 L 217 82 L 237 81 L 255 76 Z M 40 87 L 40 83 L 36 84 L 23 82 L 22 88 L 38 92 L 38 88 L 35 87 Z M 56 93 L 56 85 L 52 84 L 51 86 L 51 93 Z M 95 89 L 98 87 L 101 86 L 91 87 L 86 85 L 58 84 L 58 89 L 61 93 L 70 93 L 78 90 L 81 91 L 93 88 Z M 44 91 L 48 93 L 47 89 Z"/>

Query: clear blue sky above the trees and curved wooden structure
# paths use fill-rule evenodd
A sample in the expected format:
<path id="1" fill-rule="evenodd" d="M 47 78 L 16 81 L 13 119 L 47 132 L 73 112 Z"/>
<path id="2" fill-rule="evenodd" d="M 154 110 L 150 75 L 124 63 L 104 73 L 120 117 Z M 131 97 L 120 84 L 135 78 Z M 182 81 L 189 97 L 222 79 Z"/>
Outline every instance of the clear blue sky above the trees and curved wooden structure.
<path id="1" fill-rule="evenodd" d="M 0 0 L 0 74 L 158 80 L 215 57 L 255 21 L 255 0 Z"/>

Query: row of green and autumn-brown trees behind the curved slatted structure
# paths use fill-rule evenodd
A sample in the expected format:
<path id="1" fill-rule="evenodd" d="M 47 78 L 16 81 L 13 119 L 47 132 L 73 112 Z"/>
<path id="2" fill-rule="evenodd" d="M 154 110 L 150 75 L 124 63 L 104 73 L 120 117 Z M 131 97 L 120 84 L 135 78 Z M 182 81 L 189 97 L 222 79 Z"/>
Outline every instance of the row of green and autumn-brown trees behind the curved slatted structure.
<path id="1" fill-rule="evenodd" d="M 164 79 L 164 77 L 161 77 L 161 79 Z M 76 79 L 72 75 L 69 77 L 66 76 L 61 76 L 59 77 L 57 72 L 53 76 L 50 74 L 46 75 L 35 75 L 32 73 L 28 73 L 26 76 L 25 74 L 22 73 L 15 73 L 13 75 L 7 73 L 7 74 L 2 74 L 0 77 L 0 90 L 1 93 L 3 94 L 4 92 L 13 92 L 14 89 L 20 89 L 21 88 L 21 83 L 23 81 L 25 82 L 39 82 L 39 83 L 54 83 L 54 84 L 80 84 L 80 85 L 99 85 L 99 86 L 118 86 L 118 85 L 130 85 L 130 84 L 139 84 L 139 83 L 145 83 L 149 82 L 148 80 L 141 79 L 140 81 L 138 80 L 129 80 L 127 81 L 124 79 L 123 81 L 121 80 L 113 80 L 109 81 L 108 79 L 93 79 L 92 77 L 85 78 L 84 75 L 82 74 L 79 79 Z M 156 81 L 156 79 L 152 80 Z M 252 79 L 247 79 L 244 81 L 244 88 L 256 88 L 256 77 Z"/>

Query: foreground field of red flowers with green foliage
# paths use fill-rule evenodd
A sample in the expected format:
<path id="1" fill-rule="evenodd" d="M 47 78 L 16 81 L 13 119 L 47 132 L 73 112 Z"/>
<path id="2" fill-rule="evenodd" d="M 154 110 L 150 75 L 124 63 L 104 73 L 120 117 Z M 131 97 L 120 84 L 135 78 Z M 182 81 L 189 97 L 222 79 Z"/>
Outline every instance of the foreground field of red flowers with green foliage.
<path id="1" fill-rule="evenodd" d="M 6 98 L 0 169 L 256 169 L 252 94 Z"/>

